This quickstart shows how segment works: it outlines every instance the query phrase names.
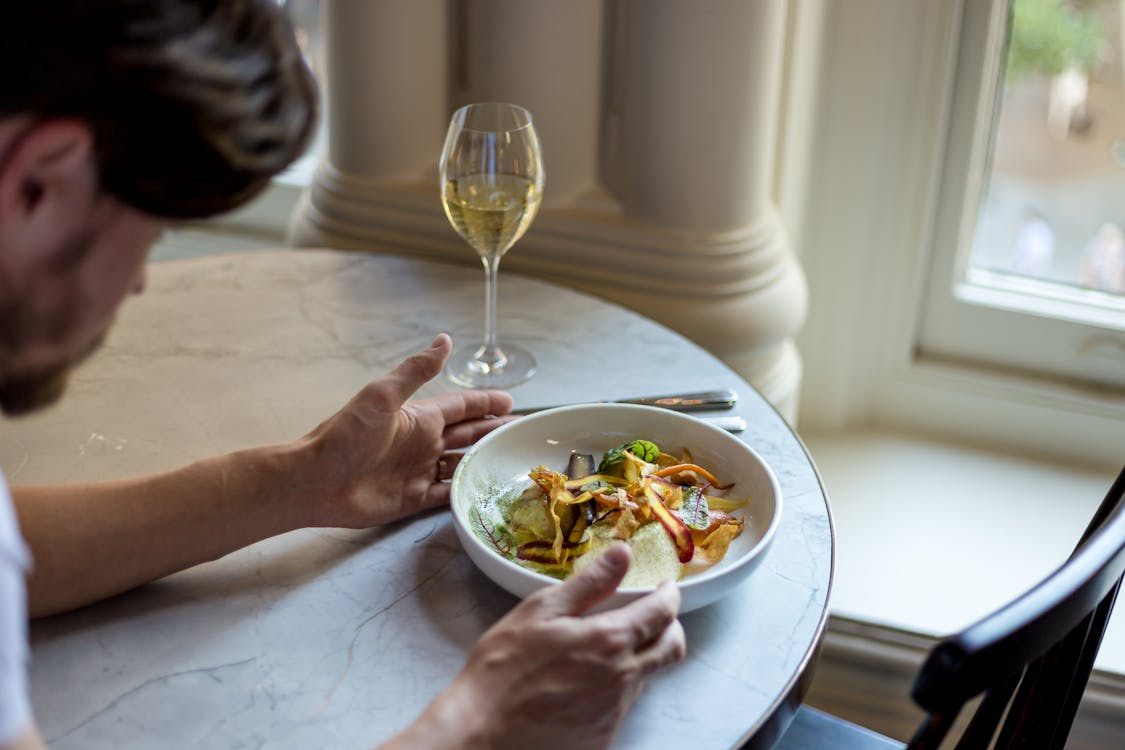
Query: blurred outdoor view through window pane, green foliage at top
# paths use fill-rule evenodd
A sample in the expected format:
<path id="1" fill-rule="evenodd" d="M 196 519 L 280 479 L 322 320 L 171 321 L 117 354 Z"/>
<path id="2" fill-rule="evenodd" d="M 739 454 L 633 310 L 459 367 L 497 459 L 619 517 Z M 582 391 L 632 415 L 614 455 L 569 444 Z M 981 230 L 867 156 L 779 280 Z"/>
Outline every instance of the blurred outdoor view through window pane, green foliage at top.
<path id="1" fill-rule="evenodd" d="M 1125 295 L 1123 0 L 1012 0 L 973 271 Z"/>

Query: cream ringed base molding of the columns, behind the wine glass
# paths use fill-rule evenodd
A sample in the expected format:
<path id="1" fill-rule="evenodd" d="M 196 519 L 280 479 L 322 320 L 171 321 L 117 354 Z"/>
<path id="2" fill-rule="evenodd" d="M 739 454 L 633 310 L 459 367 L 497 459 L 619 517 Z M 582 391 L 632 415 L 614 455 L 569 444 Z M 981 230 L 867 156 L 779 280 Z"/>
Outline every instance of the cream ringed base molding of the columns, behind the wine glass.
<path id="1" fill-rule="evenodd" d="M 433 187 L 386 184 L 322 165 L 294 214 L 296 245 L 479 259 L 453 232 Z M 634 309 L 696 342 L 749 380 L 791 422 L 801 363 L 804 275 L 775 213 L 737 232 L 642 224 L 596 191 L 590 208 L 543 209 L 503 272 L 547 279 Z"/>

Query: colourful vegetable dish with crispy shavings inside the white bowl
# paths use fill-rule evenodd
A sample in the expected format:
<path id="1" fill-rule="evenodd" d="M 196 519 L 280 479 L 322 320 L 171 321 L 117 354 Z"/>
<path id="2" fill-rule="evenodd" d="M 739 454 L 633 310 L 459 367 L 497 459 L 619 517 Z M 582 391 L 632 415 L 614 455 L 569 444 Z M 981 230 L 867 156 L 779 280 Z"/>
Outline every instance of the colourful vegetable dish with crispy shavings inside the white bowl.
<path id="1" fill-rule="evenodd" d="M 686 446 L 673 454 L 630 440 L 596 461 L 573 451 L 565 471 L 539 464 L 528 478 L 519 491 L 478 498 L 469 519 L 496 554 L 555 578 L 621 540 L 634 560 L 626 586 L 678 580 L 722 560 L 745 525 L 735 484 Z"/>

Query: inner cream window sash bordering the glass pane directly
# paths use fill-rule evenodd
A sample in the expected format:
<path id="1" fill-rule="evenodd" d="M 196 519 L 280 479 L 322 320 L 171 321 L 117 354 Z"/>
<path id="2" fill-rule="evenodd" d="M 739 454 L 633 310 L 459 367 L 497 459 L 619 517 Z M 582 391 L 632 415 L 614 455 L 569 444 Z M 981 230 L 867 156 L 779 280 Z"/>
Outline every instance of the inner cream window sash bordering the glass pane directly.
<path id="1" fill-rule="evenodd" d="M 968 3 L 961 24 L 947 169 L 919 349 L 1023 370 L 1029 378 L 1125 387 L 1125 301 L 1094 307 L 1064 287 L 970 268 L 999 111 L 1009 1 Z M 947 210 L 943 207 L 948 205 Z M 954 218 L 956 217 L 956 218 Z"/>

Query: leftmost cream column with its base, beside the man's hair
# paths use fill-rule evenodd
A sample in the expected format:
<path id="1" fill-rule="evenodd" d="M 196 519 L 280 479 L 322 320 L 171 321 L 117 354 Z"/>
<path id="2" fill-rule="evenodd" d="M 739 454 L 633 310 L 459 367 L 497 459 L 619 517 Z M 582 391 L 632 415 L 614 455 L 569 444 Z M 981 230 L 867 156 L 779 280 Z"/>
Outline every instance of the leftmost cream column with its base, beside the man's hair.
<path id="1" fill-rule="evenodd" d="M 321 12 L 328 145 L 289 240 L 393 251 L 372 227 L 399 210 L 403 186 L 436 182 L 449 117 L 447 3 L 324 0 Z"/>

